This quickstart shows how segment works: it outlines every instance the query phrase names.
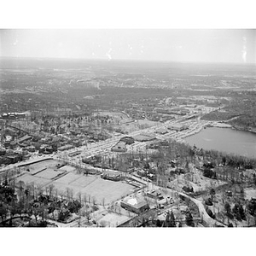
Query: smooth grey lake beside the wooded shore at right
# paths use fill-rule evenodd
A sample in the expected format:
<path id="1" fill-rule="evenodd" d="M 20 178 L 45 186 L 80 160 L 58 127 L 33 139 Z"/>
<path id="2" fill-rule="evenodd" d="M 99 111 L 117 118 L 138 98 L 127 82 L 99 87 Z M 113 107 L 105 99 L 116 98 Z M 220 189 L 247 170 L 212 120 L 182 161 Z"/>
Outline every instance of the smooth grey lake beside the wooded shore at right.
<path id="1" fill-rule="evenodd" d="M 185 138 L 191 146 L 215 149 L 256 158 L 256 134 L 230 128 L 211 127 Z"/>

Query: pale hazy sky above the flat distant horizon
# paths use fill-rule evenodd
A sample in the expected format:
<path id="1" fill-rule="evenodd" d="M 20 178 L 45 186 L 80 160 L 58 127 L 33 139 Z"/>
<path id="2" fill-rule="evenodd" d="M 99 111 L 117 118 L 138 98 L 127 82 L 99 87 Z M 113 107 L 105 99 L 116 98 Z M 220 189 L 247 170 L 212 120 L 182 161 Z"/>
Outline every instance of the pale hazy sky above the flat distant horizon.
<path id="1" fill-rule="evenodd" d="M 256 63 L 256 30 L 2 29 L 0 56 Z"/>

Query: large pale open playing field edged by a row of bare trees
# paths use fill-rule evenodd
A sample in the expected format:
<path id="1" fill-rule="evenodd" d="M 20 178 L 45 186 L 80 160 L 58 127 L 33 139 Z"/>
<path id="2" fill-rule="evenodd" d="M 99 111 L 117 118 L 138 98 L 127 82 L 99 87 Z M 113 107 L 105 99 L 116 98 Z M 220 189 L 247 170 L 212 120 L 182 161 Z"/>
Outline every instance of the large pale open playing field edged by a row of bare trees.
<path id="1" fill-rule="evenodd" d="M 58 161 L 56 160 L 45 160 L 32 164 L 33 170 L 37 170 L 38 172 L 34 172 L 34 174 L 27 172 L 18 177 L 17 182 L 21 180 L 24 183 L 40 184 L 43 189 L 49 186 L 49 184 L 53 184 L 59 194 L 62 193 L 65 196 L 67 195 L 67 189 L 70 189 L 73 191 L 73 198 L 77 198 L 80 192 L 82 198 L 84 198 L 85 194 L 87 196 L 90 195 L 90 198 L 95 198 L 98 204 L 102 204 L 103 201 L 104 204 L 117 201 L 122 196 L 131 194 L 135 188 L 131 184 L 105 180 L 96 175 L 84 176 L 75 172 L 67 172 L 68 166 L 65 172 L 61 168 L 57 169 L 55 167 L 57 164 Z M 31 169 L 31 166 L 28 167 Z M 47 169 L 40 172 L 44 168 Z M 57 177 L 58 175 L 61 175 L 61 177 Z"/>

